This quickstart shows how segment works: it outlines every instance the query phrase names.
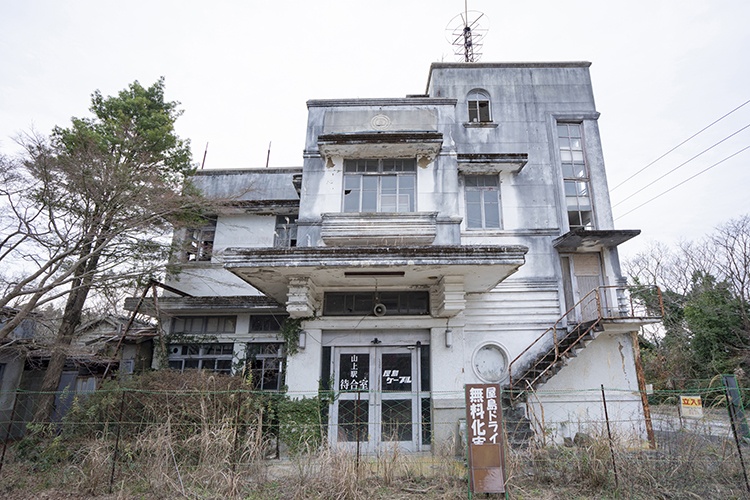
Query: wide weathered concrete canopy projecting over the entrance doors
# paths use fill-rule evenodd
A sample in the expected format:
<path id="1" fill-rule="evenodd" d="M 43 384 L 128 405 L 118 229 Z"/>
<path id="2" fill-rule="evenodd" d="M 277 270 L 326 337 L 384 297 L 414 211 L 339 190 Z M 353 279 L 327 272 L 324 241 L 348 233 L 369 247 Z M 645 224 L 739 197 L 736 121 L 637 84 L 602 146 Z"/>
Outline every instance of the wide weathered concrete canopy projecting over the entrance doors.
<path id="1" fill-rule="evenodd" d="M 428 289 L 444 276 L 463 278 L 466 293 L 491 290 L 525 262 L 524 246 L 228 248 L 224 267 L 284 303 L 289 280 L 320 288 Z"/>

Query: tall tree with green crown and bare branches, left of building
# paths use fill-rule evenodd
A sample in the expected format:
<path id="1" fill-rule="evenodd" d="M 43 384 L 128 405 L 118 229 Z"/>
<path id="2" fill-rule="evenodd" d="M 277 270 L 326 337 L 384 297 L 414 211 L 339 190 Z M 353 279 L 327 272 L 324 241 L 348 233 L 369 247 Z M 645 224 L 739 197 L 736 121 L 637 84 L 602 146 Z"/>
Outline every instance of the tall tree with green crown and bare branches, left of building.
<path id="1" fill-rule="evenodd" d="M 185 184 L 194 168 L 189 144 L 174 132 L 177 105 L 164 100 L 163 79 L 148 88 L 134 82 L 113 97 L 97 91 L 92 118 L 73 118 L 49 138 L 21 137 L 25 154 L 8 165 L 1 194 L 12 230 L 0 246 L 0 306 L 20 312 L 0 338 L 42 304 L 64 302 L 39 421 L 51 414 L 92 290 L 148 278 L 165 262 L 171 227 L 200 216 L 201 199 Z"/>

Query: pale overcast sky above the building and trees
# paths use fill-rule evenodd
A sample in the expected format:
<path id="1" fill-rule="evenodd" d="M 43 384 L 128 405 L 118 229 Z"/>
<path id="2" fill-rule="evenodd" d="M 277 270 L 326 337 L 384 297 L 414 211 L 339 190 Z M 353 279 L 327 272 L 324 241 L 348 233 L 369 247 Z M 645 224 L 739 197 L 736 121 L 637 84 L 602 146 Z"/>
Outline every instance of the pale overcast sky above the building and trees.
<path id="1" fill-rule="evenodd" d="M 592 63 L 615 227 L 643 231 L 622 245 L 625 258 L 750 213 L 750 128 L 741 130 L 750 2 L 468 8 L 488 28 L 482 62 Z M 19 133 L 88 116 L 95 90 L 163 76 L 184 111 L 177 132 L 196 162 L 207 151 L 205 168 L 263 167 L 269 144 L 269 166 L 301 166 L 307 100 L 424 93 L 430 64 L 456 60 L 446 28 L 463 9 L 461 0 L 0 0 L 0 152 L 17 152 Z"/>

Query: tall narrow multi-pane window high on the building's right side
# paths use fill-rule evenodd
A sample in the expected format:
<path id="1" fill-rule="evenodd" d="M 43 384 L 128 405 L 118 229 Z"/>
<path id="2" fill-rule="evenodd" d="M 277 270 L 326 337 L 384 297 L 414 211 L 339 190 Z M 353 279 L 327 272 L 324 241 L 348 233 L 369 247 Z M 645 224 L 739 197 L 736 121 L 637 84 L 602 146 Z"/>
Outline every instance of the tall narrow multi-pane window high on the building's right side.
<path id="1" fill-rule="evenodd" d="M 557 141 L 570 229 L 593 227 L 589 174 L 583 154 L 581 129 L 580 123 L 557 124 Z"/>

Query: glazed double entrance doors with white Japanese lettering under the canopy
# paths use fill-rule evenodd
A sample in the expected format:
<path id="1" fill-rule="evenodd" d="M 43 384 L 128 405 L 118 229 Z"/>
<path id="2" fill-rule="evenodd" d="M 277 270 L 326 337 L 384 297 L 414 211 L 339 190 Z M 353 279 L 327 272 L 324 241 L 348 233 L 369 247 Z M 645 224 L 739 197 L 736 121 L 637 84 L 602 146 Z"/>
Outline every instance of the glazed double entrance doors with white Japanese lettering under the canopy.
<path id="1" fill-rule="evenodd" d="M 332 445 L 358 447 L 362 453 L 393 445 L 419 451 L 429 445 L 430 394 L 422 381 L 422 350 L 429 352 L 429 346 L 333 348 Z"/>

